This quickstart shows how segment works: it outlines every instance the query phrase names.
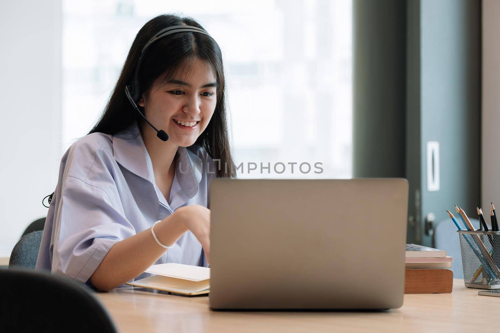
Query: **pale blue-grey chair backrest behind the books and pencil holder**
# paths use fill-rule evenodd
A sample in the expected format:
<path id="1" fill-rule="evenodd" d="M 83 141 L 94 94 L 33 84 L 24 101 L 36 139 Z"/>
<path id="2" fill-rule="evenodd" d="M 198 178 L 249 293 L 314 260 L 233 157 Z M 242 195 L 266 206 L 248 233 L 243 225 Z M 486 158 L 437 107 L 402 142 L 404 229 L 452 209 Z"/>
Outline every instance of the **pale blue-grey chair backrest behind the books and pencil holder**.
<path id="1" fill-rule="evenodd" d="M 470 218 L 469 220 L 475 229 L 479 228 L 479 220 Z M 441 221 L 435 227 L 432 247 L 439 250 L 445 250 L 447 256 L 453 257 L 453 262 L 451 263 L 453 278 L 463 279 L 460 241 L 458 239 L 456 227 L 450 219 Z"/>

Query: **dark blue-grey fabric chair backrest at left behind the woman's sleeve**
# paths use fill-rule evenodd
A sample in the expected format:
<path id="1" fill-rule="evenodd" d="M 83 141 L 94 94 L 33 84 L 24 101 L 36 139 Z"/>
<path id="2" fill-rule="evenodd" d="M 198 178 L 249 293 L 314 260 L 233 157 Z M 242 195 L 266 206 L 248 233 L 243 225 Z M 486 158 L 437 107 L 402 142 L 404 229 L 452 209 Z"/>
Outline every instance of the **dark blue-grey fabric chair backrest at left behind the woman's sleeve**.
<path id="1" fill-rule="evenodd" d="M 33 231 L 22 236 L 10 254 L 8 267 L 18 266 L 34 269 L 42 234 L 43 231 Z"/>

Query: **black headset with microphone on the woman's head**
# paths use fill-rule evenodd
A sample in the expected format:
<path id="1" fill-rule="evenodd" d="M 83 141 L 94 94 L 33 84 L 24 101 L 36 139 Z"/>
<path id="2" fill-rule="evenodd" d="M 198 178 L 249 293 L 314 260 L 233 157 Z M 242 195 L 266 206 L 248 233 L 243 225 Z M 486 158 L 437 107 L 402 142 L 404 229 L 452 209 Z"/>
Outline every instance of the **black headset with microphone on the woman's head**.
<path id="1" fill-rule="evenodd" d="M 125 95 L 127 96 L 130 103 L 132 103 L 135 110 L 137 110 L 137 112 L 139 112 L 139 114 L 145 119 L 145 121 L 156 131 L 156 136 L 163 141 L 168 140 L 168 134 L 166 134 L 164 130 L 162 129 L 158 130 L 156 127 L 154 127 L 153 124 L 151 124 L 149 120 L 147 120 L 145 115 L 142 112 L 140 112 L 139 107 L 136 104 L 140 99 L 140 87 L 139 87 L 138 75 L 139 75 L 140 64 L 144 59 L 144 54 L 149 45 L 151 45 L 154 41 L 162 37 L 168 36 L 169 34 L 176 32 L 198 32 L 198 33 L 203 33 L 211 38 L 211 36 L 205 30 L 191 25 L 173 25 L 159 30 L 154 34 L 154 36 L 151 39 L 149 39 L 149 41 L 142 48 L 142 51 L 140 52 L 139 61 L 137 62 L 137 66 L 135 67 L 133 79 L 130 82 L 130 84 L 125 85 Z"/>

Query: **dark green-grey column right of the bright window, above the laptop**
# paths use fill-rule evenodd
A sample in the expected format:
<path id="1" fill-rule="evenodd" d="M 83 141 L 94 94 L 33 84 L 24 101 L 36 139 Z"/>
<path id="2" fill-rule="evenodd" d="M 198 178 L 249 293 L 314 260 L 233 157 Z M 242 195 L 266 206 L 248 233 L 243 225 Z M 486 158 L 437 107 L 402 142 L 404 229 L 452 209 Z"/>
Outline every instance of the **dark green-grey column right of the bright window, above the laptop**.
<path id="1" fill-rule="evenodd" d="M 353 177 L 403 177 L 406 1 L 353 1 Z"/>

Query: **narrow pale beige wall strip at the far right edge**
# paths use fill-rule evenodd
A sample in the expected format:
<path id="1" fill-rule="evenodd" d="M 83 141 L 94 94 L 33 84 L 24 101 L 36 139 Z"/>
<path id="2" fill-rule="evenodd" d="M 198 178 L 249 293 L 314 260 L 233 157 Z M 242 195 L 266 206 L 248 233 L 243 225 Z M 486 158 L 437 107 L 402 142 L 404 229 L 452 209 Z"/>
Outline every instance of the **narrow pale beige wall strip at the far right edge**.
<path id="1" fill-rule="evenodd" d="M 500 1 L 482 1 L 481 205 L 500 209 Z"/>

